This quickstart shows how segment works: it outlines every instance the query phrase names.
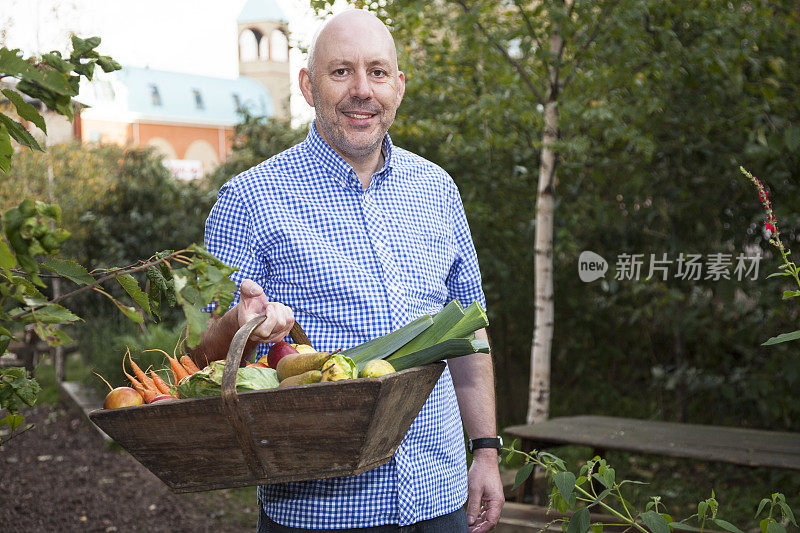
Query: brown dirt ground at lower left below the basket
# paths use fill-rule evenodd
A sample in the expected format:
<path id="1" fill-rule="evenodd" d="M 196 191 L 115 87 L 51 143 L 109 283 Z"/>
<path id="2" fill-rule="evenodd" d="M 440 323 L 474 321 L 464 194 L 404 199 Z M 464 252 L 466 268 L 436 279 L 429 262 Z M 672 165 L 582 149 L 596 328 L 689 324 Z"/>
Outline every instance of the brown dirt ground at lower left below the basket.
<path id="1" fill-rule="evenodd" d="M 35 427 L 0 447 L 0 530 L 254 531 L 255 489 L 173 494 L 78 412 L 22 413 Z"/>

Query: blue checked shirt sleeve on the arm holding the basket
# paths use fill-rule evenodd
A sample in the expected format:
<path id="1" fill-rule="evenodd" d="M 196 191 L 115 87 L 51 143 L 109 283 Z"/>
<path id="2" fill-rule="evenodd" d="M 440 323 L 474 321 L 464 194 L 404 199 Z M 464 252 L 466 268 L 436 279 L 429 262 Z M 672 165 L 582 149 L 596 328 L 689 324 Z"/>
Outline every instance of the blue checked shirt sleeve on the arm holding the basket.
<path id="1" fill-rule="evenodd" d="M 236 286 L 243 279 L 255 281 L 262 287 L 267 280 L 267 272 L 262 254 L 257 250 L 253 235 L 253 225 L 245 202 L 230 183 L 219 191 L 217 202 L 206 220 L 206 249 L 214 256 L 238 270 L 230 279 Z M 231 307 L 239 301 L 239 291 L 234 295 Z"/>

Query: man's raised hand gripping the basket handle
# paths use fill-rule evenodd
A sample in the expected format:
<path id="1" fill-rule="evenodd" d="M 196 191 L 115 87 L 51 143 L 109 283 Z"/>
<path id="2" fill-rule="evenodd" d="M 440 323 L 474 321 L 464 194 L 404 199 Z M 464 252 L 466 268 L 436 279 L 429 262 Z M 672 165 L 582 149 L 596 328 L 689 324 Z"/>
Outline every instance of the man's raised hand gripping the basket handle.
<path id="1" fill-rule="evenodd" d="M 236 304 L 239 327 L 256 316 L 267 315 L 267 319 L 250 335 L 251 341 L 278 342 L 289 334 L 294 326 L 291 309 L 282 303 L 268 301 L 261 286 L 249 279 L 242 280 L 239 290 L 241 294 Z"/>

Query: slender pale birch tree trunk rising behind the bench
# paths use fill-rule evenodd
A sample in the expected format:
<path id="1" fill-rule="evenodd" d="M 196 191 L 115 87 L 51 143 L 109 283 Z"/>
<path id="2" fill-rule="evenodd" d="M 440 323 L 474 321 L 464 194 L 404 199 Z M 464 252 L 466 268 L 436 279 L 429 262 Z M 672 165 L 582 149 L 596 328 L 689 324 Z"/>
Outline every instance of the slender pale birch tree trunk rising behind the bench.
<path id="1" fill-rule="evenodd" d="M 564 2 L 565 10 L 572 1 Z M 550 353 L 553 345 L 553 188 L 556 179 L 556 151 L 558 140 L 559 60 L 564 40 L 558 27 L 550 35 L 550 50 L 558 54 L 548 68 L 548 90 L 544 103 L 544 131 L 542 155 L 539 164 L 539 186 L 536 196 L 536 243 L 534 272 L 533 346 L 531 348 L 531 376 L 528 389 L 527 423 L 546 420 L 550 415 Z"/>

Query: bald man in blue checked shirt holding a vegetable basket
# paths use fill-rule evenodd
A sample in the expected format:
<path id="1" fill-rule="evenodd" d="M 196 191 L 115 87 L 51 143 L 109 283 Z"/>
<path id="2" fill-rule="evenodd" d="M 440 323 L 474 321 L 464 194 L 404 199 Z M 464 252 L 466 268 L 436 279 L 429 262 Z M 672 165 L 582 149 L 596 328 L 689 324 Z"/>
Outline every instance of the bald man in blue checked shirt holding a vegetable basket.
<path id="1" fill-rule="evenodd" d="M 315 348 L 333 351 L 454 299 L 485 306 L 455 183 L 387 134 L 405 76 L 383 23 L 359 10 L 329 19 L 300 89 L 316 113 L 306 140 L 225 184 L 206 223 L 206 245 L 239 269 L 240 291 L 193 352 L 201 363 L 225 357 L 259 314 L 268 319 L 249 350 L 264 353 L 297 320 Z M 259 531 L 488 531 L 504 501 L 496 434 L 491 357 L 450 360 L 388 463 L 259 487 Z"/>

